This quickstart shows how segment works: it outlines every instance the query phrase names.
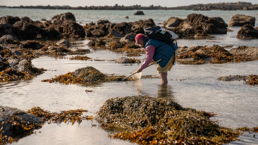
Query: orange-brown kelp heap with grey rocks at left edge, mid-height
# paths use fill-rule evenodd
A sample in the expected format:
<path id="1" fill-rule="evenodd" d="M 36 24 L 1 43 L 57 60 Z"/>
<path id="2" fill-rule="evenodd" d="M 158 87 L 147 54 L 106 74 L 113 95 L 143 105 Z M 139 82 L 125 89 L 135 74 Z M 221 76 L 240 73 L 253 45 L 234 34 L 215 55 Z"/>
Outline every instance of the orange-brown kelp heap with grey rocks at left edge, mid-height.
<path id="1" fill-rule="evenodd" d="M 33 78 L 45 70 L 38 69 L 31 63 L 36 58 L 30 50 L 18 48 L 12 52 L 9 48 L 0 46 L 0 81 L 10 81 L 20 78 Z"/>

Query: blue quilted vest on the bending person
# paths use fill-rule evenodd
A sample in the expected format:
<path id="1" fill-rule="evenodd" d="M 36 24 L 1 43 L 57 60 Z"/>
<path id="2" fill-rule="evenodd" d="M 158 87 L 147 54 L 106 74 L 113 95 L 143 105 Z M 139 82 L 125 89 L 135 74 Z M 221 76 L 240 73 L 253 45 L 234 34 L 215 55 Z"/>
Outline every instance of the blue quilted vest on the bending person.
<path id="1" fill-rule="evenodd" d="M 153 45 L 155 47 L 153 60 L 158 61 L 161 58 L 162 60 L 157 64 L 159 64 L 162 68 L 167 65 L 170 58 L 173 56 L 173 54 L 175 54 L 175 50 L 178 49 L 178 46 L 175 44 L 170 45 L 156 39 L 145 37 L 143 41 L 143 47 L 146 49 L 148 45 Z"/>

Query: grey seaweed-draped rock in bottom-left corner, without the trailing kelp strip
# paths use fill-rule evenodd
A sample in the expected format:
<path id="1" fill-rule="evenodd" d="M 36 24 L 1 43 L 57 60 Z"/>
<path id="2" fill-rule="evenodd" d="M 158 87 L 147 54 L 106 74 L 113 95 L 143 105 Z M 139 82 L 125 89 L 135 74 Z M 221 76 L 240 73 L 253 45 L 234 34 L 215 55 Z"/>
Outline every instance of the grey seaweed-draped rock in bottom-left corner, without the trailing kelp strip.
<path id="1" fill-rule="evenodd" d="M 34 127 L 29 125 L 36 126 L 36 129 L 42 127 L 42 118 L 26 113 L 22 110 L 10 107 L 0 106 L 0 128 L 1 134 L 7 135 L 12 138 L 25 137 L 26 135 L 33 132 Z M 28 125 L 28 128 L 25 129 L 22 125 Z"/>

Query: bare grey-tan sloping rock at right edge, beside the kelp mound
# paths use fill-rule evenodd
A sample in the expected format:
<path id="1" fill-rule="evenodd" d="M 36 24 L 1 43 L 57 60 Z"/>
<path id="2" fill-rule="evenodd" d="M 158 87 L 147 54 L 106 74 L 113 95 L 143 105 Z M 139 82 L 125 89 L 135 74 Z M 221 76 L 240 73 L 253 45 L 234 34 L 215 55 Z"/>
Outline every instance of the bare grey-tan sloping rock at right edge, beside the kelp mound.
<path id="1" fill-rule="evenodd" d="M 247 58 L 258 59 L 258 48 L 257 47 L 247 47 L 247 46 L 238 46 L 228 50 L 231 54 L 237 56 L 245 56 Z"/>

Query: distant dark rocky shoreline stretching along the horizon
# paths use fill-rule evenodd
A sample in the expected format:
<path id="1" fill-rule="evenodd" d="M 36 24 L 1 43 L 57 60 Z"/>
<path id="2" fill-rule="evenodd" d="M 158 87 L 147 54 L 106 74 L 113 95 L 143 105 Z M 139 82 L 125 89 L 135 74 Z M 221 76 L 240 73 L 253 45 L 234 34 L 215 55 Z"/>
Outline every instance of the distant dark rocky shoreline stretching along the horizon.
<path id="1" fill-rule="evenodd" d="M 257 4 L 247 2 L 236 2 L 236 3 L 213 3 L 213 4 L 193 4 L 189 6 L 178 6 L 178 7 L 162 7 L 162 6 L 0 6 L 8 8 L 39 8 L 39 9 L 59 9 L 59 10 L 195 10 L 195 11 L 207 11 L 207 10 L 258 10 Z"/>

